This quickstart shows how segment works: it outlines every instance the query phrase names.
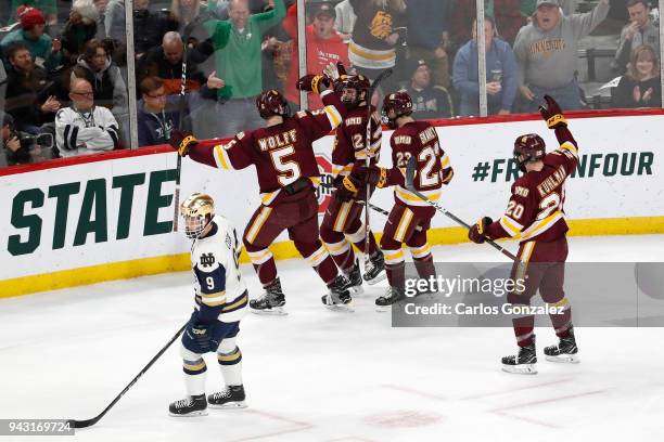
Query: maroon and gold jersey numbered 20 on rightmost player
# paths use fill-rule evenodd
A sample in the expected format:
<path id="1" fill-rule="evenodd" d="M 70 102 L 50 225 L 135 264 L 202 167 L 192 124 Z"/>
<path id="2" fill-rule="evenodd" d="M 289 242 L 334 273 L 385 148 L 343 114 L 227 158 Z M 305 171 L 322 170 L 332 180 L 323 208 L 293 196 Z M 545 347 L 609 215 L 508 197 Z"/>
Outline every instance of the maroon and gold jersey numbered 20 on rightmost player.
<path id="1" fill-rule="evenodd" d="M 512 184 L 505 214 L 487 227 L 490 238 L 552 242 L 567 232 L 565 181 L 576 168 L 578 153 L 566 128 L 557 129 L 556 134 L 560 146 L 542 158 L 544 168 L 525 173 Z"/>

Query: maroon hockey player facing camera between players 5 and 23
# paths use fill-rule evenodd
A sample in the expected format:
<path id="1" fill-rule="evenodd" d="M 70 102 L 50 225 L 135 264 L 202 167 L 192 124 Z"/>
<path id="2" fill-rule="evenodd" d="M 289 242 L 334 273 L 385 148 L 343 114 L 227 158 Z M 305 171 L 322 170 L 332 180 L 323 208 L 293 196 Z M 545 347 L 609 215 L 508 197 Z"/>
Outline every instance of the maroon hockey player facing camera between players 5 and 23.
<path id="1" fill-rule="evenodd" d="M 340 66 L 341 68 L 342 66 Z M 369 79 L 362 75 L 348 76 L 342 72 L 335 81 L 334 89 L 337 96 L 348 110 L 346 117 L 336 129 L 334 150 L 332 151 L 332 176 L 334 177 L 335 192 L 332 194 L 330 205 L 320 225 L 320 237 L 340 269 L 350 281 L 350 288 L 360 291 L 362 276 L 358 261 L 355 258 L 353 244 L 365 251 L 365 223 L 361 220 L 367 186 L 360 180 L 350 177 L 353 166 L 365 164 L 367 139 L 367 112 Z M 372 106 L 373 108 L 373 106 Z M 378 161 L 381 150 L 382 127 L 378 113 L 371 114 L 371 143 L 369 157 L 371 162 Z M 369 234 L 369 262 L 370 266 L 365 273 L 369 284 L 375 284 L 385 268 L 383 253 L 375 244 L 373 233 Z M 384 275 L 384 274 L 383 274 Z"/>

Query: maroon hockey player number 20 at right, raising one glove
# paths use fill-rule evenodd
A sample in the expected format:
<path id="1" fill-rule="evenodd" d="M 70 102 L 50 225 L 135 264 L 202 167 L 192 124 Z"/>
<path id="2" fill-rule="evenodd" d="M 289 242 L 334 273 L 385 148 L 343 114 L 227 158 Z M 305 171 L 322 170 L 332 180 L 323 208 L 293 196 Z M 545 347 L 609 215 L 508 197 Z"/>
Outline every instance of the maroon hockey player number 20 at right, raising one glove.
<path id="1" fill-rule="evenodd" d="M 477 244 L 490 239 L 520 237 L 519 259 L 512 268 L 512 278 L 524 278 L 525 289 L 508 294 L 508 302 L 529 306 L 539 289 L 549 306 L 562 313 L 550 314 L 558 346 L 545 348 L 547 360 L 578 362 L 576 340 L 572 328 L 572 310 L 563 290 L 567 258 L 567 223 L 563 211 L 565 180 L 578 161 L 576 141 L 567 129 L 560 106 L 545 95 L 546 107 L 539 107 L 549 129 L 556 131 L 560 146 L 547 154 L 544 140 L 535 134 L 521 135 L 514 142 L 514 159 L 525 174 L 512 184 L 512 196 L 507 211 L 498 221 L 481 218 L 469 231 L 469 238 Z M 502 358 L 502 369 L 510 373 L 537 373 L 537 353 L 533 334 L 534 316 L 513 320 L 519 354 Z"/>

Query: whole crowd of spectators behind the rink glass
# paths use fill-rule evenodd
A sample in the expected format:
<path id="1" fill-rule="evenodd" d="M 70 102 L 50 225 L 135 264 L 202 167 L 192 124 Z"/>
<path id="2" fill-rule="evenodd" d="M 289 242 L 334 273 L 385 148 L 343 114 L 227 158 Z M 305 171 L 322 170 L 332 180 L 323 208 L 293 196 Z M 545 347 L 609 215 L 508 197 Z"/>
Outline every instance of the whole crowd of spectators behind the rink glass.
<path id="1" fill-rule="evenodd" d="M 305 107 L 294 0 L 133 0 L 133 32 L 128 0 L 7 2 L 0 166 L 129 148 L 133 99 L 139 146 L 166 143 L 177 127 L 200 139 L 254 129 L 264 89 Z M 656 3 L 486 0 L 480 47 L 475 4 L 306 0 L 307 70 L 342 62 L 373 79 L 393 68 L 380 93 L 406 90 L 422 119 L 478 117 L 481 93 L 487 115 L 535 112 L 544 94 L 565 109 L 662 107 Z"/>

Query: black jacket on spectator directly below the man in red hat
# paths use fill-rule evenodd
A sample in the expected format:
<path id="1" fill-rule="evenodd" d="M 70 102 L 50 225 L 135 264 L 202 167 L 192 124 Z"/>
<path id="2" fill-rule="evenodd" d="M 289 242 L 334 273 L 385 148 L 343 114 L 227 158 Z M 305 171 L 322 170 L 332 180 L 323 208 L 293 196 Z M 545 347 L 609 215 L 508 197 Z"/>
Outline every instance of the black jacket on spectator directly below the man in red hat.
<path id="1" fill-rule="evenodd" d="M 44 69 L 35 66 L 26 74 L 12 67 L 8 77 L 4 109 L 14 118 L 17 127 L 41 126 L 53 121 L 55 114 L 43 114 L 40 109 L 53 88 L 53 81 L 49 81 Z"/>

